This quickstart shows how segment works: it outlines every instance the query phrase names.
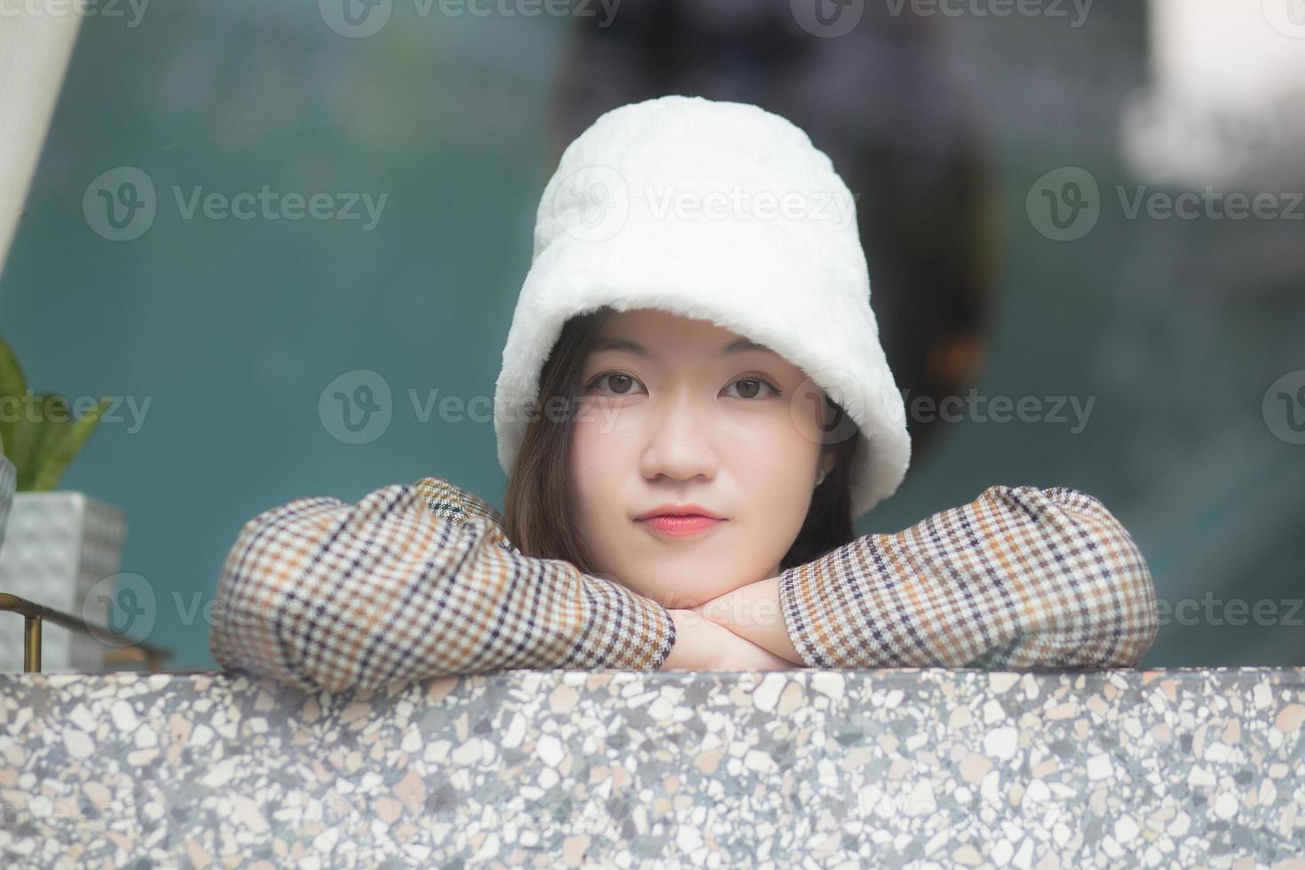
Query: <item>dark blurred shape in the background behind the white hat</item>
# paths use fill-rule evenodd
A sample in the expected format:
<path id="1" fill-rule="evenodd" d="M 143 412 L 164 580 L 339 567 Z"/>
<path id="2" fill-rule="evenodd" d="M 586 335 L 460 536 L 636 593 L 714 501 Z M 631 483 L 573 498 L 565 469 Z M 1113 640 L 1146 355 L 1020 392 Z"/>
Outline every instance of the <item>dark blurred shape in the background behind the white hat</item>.
<path id="1" fill-rule="evenodd" d="M 803 128 L 856 197 L 872 300 L 898 387 L 940 400 L 983 364 L 1001 213 L 972 100 L 933 18 L 869 5 L 818 39 L 790 0 L 625 0 L 576 18 L 552 162 L 603 112 L 663 94 L 756 103 Z M 946 424 L 911 421 L 912 462 Z"/>

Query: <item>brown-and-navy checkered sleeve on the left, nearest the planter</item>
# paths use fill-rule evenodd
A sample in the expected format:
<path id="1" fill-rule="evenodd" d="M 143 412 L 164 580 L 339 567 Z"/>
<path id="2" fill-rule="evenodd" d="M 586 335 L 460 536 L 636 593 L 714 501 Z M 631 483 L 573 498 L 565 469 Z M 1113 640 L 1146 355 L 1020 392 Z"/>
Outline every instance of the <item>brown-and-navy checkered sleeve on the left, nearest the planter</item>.
<path id="1" fill-rule="evenodd" d="M 675 643 L 660 604 L 523 556 L 499 520 L 438 477 L 264 511 L 223 563 L 209 648 L 223 668 L 331 691 L 514 668 L 660 668 Z"/>

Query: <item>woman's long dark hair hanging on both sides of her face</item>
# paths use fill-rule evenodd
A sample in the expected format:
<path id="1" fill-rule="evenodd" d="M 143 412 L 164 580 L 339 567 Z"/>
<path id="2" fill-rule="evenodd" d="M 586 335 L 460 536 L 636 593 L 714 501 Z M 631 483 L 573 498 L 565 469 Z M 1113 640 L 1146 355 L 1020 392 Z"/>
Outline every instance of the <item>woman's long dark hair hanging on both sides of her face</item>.
<path id="1" fill-rule="evenodd" d="M 539 398 L 529 408 L 530 421 L 508 479 L 504 519 L 508 537 L 526 556 L 560 558 L 586 574 L 598 574 L 578 532 L 570 485 L 570 441 L 579 402 L 581 373 L 602 325 L 615 314 L 609 307 L 569 318 L 540 370 Z M 826 397 L 827 430 L 839 430 L 843 408 Z M 853 430 L 855 432 L 855 430 Z M 859 437 L 833 445 L 834 468 L 816 487 L 812 505 L 780 570 L 851 541 L 851 468 Z M 758 578 L 761 579 L 761 578 Z"/>

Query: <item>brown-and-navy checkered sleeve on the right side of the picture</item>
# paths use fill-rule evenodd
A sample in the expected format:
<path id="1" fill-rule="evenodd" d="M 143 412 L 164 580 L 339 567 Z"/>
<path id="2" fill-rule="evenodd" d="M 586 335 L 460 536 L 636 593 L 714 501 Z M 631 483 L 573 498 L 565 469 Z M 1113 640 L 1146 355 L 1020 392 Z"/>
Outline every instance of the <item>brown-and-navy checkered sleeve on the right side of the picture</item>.
<path id="1" fill-rule="evenodd" d="M 864 535 L 779 578 L 813 668 L 1134 667 L 1155 587 L 1131 536 L 1067 487 L 990 487 L 895 535 Z"/>

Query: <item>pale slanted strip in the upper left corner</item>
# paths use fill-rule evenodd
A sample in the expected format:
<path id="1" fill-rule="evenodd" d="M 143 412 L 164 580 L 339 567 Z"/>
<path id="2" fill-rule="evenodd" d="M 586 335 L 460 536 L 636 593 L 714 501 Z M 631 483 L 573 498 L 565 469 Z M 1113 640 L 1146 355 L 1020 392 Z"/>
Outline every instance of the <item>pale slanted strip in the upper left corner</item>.
<path id="1" fill-rule="evenodd" d="M 77 39 L 76 5 L 0 0 L 0 274 Z"/>

